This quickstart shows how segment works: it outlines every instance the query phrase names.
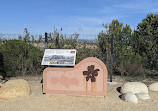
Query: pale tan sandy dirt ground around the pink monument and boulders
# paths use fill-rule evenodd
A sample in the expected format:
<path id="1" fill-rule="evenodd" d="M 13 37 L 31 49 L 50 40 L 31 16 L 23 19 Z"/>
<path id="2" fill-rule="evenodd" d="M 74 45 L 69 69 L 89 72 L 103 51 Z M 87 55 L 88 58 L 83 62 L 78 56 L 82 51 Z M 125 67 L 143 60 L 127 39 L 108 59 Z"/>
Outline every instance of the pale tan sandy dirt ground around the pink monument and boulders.
<path id="1" fill-rule="evenodd" d="M 158 111 L 158 92 L 149 92 L 150 100 L 128 103 L 119 98 L 117 85 L 108 85 L 106 97 L 43 95 L 42 77 L 26 77 L 31 95 L 25 98 L 0 100 L 0 111 Z M 16 78 L 17 79 L 17 78 Z"/>

